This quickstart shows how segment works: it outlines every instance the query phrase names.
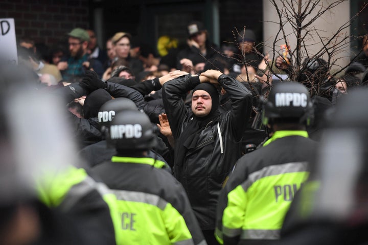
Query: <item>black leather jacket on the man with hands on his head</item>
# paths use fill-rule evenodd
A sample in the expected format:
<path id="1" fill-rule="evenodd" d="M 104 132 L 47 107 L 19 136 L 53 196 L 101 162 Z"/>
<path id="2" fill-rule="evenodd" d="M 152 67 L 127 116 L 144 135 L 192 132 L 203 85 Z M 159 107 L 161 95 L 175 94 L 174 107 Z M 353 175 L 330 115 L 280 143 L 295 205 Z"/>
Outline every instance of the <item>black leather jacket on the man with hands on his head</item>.
<path id="1" fill-rule="evenodd" d="M 231 96 L 232 109 L 200 133 L 187 151 L 182 165 L 174 163 L 173 174 L 187 191 L 202 230 L 215 229 L 215 211 L 222 184 L 241 157 L 243 130 L 251 112 L 251 92 L 232 77 L 221 75 L 219 84 Z M 163 86 L 163 101 L 175 141 L 192 118 L 182 98 L 199 84 L 198 77 L 186 75 Z M 222 140 L 220 140 L 222 139 Z M 175 144 L 175 150 L 183 145 Z"/>

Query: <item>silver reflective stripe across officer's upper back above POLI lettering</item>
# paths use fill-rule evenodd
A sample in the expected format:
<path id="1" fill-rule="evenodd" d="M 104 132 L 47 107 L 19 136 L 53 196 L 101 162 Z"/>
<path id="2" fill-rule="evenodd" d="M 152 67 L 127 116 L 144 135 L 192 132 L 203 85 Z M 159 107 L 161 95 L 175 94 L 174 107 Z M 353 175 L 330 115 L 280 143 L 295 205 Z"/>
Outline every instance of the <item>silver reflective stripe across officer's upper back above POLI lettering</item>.
<path id="1" fill-rule="evenodd" d="M 241 184 L 244 191 L 247 191 L 248 188 L 257 180 L 273 175 L 281 175 L 286 173 L 295 173 L 307 170 L 307 162 L 291 162 L 291 163 L 284 163 L 279 165 L 271 165 L 262 168 L 254 173 L 251 173 L 248 179 Z"/>

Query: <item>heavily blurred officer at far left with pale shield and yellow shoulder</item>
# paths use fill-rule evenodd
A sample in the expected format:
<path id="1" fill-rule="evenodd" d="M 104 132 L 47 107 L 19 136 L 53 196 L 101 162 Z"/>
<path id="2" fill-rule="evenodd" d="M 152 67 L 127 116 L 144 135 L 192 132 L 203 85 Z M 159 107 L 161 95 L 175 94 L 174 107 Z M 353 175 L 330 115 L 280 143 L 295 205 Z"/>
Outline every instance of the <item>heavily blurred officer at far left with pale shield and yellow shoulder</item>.
<path id="1" fill-rule="evenodd" d="M 96 182 L 72 166 L 77 159 L 63 104 L 39 90 L 27 69 L 3 68 L 0 244 L 115 244 L 110 209 Z M 42 182 L 38 188 L 35 180 Z"/>

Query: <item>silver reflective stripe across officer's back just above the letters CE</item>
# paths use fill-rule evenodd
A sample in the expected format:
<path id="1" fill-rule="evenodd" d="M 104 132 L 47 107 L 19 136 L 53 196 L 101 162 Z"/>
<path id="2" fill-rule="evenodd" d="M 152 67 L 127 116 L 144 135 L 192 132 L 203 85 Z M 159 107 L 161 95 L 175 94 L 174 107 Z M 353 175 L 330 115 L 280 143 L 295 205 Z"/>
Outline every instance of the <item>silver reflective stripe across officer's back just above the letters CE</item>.
<path id="1" fill-rule="evenodd" d="M 164 210 L 166 205 L 168 204 L 167 201 L 160 198 L 158 195 L 154 194 L 129 190 L 111 190 L 111 191 L 116 195 L 117 199 L 121 201 L 146 203 L 154 205 L 161 210 Z"/>

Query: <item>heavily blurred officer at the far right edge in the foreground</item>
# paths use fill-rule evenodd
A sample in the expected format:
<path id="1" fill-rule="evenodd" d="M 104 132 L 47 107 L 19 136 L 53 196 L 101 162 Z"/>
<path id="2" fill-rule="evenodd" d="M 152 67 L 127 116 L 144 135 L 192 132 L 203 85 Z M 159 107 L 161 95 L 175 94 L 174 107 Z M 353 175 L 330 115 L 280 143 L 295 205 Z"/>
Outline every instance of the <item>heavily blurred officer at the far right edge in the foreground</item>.
<path id="1" fill-rule="evenodd" d="M 367 244 L 368 90 L 351 90 L 330 113 L 309 180 L 272 244 Z"/>

